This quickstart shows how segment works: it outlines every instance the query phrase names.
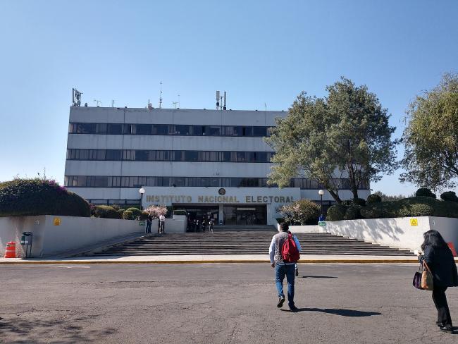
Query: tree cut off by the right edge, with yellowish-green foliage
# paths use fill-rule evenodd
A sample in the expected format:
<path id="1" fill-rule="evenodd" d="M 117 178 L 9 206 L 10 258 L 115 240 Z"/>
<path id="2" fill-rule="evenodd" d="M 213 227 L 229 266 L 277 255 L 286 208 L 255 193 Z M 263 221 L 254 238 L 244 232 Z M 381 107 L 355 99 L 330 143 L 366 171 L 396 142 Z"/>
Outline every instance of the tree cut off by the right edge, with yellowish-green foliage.
<path id="1" fill-rule="evenodd" d="M 458 74 L 447 73 L 440 84 L 416 97 L 404 129 L 402 182 L 439 190 L 457 185 Z"/>

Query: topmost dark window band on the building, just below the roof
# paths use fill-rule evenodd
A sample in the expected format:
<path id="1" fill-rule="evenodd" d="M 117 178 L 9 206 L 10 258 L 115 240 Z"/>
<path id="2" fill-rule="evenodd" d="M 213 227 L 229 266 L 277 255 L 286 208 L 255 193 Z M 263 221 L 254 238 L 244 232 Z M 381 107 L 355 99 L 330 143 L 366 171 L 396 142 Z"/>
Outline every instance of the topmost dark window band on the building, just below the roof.
<path id="1" fill-rule="evenodd" d="M 184 135 L 184 136 L 252 136 L 270 135 L 271 127 L 247 125 L 177 125 L 177 124 L 123 124 L 70 123 L 70 134 L 109 135 Z"/>

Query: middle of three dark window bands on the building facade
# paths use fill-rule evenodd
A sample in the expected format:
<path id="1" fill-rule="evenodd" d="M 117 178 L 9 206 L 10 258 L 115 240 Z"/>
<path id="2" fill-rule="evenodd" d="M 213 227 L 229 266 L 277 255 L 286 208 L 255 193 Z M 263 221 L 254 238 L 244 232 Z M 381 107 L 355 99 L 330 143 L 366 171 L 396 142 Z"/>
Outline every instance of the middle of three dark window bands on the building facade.
<path id="1" fill-rule="evenodd" d="M 270 162 L 273 152 L 215 152 L 145 149 L 67 149 L 68 160 Z"/>

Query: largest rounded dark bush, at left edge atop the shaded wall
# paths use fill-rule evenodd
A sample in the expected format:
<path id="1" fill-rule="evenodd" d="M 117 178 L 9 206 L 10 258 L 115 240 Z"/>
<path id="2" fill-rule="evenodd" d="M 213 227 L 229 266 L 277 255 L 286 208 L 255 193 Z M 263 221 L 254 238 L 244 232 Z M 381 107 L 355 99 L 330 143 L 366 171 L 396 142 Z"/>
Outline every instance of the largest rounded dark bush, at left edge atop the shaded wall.
<path id="1" fill-rule="evenodd" d="M 89 203 L 55 180 L 14 179 L 0 183 L 0 216 L 91 216 Z"/>

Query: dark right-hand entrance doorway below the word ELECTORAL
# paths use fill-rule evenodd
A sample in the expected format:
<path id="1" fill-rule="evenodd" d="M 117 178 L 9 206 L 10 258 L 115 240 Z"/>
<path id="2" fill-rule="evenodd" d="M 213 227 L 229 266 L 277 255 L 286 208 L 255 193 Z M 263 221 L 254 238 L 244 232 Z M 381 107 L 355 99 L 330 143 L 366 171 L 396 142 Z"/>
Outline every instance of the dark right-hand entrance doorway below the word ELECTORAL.
<path id="1" fill-rule="evenodd" d="M 267 224 L 266 205 L 256 206 L 224 206 L 224 224 L 253 226 Z"/>

